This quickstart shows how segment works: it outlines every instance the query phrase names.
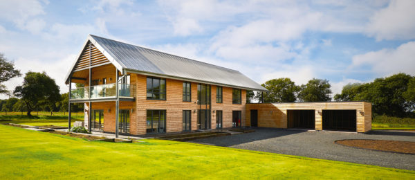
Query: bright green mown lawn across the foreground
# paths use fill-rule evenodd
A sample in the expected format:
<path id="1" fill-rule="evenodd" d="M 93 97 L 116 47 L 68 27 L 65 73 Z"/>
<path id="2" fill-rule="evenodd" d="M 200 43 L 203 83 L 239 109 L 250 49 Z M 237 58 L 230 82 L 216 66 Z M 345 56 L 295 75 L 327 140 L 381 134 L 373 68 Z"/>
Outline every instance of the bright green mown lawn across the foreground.
<path id="1" fill-rule="evenodd" d="M 415 179 L 415 172 L 175 141 L 89 142 L 0 125 L 0 179 Z"/>

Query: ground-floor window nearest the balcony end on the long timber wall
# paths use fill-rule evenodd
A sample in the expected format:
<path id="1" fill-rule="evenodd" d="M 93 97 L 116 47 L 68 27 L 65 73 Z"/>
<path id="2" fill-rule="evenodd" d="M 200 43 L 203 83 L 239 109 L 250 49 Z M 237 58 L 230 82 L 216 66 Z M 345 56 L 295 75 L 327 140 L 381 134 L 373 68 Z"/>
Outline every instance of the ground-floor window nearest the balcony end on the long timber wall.
<path id="1" fill-rule="evenodd" d="M 147 133 L 166 132 L 166 110 L 147 110 Z"/>

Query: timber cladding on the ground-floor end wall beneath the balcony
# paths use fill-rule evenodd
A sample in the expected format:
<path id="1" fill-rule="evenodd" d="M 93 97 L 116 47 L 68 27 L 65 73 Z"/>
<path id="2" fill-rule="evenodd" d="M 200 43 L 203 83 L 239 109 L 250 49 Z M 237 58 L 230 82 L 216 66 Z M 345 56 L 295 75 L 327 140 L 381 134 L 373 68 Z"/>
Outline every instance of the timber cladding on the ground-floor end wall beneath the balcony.
<path id="1" fill-rule="evenodd" d="M 116 132 L 116 102 L 91 102 L 92 110 L 103 110 L 104 111 L 104 132 Z M 120 101 L 119 109 L 130 110 L 130 133 L 136 134 L 136 102 Z M 89 103 L 85 103 L 86 117 L 88 116 Z M 88 124 L 88 118 L 85 118 Z"/>

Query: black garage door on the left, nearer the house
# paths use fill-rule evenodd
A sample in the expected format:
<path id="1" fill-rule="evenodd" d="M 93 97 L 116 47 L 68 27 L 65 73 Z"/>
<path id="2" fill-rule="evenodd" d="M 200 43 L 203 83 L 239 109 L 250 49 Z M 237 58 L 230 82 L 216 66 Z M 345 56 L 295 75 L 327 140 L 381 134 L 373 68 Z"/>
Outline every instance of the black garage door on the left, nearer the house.
<path id="1" fill-rule="evenodd" d="M 288 128 L 314 129 L 314 110 L 287 110 Z"/>

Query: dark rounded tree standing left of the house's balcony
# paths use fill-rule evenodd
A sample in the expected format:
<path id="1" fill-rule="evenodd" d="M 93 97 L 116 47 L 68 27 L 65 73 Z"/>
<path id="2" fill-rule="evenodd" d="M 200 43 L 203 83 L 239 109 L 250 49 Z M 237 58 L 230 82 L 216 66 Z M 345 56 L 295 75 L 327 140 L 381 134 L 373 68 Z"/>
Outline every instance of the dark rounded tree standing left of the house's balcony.
<path id="1" fill-rule="evenodd" d="M 15 96 L 24 100 L 28 109 L 28 116 L 35 108 L 42 105 L 54 107 L 55 103 L 60 100 L 59 87 L 55 80 L 43 73 L 29 71 L 24 77 L 21 86 L 17 86 Z"/>

